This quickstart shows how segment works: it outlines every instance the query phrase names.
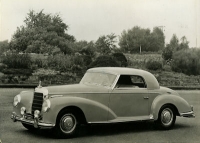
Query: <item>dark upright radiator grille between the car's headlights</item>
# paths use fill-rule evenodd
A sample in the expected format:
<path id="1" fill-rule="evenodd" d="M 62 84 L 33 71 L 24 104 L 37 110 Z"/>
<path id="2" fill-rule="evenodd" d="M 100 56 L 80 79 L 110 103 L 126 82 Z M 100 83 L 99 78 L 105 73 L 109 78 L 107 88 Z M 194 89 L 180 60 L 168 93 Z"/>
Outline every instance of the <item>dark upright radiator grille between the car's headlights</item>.
<path id="1" fill-rule="evenodd" d="M 34 93 L 33 104 L 32 104 L 32 114 L 35 110 L 41 111 L 43 103 L 43 93 Z"/>

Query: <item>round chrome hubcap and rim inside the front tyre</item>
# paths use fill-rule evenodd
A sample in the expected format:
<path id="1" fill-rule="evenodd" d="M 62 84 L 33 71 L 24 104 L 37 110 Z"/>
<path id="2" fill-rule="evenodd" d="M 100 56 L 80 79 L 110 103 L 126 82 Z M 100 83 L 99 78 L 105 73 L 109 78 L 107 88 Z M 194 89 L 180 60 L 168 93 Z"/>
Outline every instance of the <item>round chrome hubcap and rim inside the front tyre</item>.
<path id="1" fill-rule="evenodd" d="M 73 132 L 76 124 L 77 121 L 73 114 L 64 114 L 60 119 L 60 129 L 66 134 Z"/>

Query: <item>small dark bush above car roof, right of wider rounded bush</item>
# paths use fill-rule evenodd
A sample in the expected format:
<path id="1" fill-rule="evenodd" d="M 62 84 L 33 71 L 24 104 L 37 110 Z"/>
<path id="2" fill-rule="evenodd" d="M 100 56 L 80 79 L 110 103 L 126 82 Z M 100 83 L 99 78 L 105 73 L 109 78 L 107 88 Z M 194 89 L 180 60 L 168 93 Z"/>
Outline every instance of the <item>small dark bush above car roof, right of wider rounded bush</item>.
<path id="1" fill-rule="evenodd" d="M 128 61 L 123 53 L 113 53 L 112 56 L 120 64 L 121 67 L 128 66 Z"/>

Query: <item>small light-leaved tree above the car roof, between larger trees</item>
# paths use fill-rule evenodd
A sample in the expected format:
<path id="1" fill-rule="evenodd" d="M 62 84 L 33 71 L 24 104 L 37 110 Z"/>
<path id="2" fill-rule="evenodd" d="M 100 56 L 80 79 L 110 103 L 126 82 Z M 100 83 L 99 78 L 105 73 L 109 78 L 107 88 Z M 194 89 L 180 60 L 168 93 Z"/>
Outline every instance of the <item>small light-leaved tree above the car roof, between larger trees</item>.
<path id="1" fill-rule="evenodd" d="M 110 54 L 112 50 L 116 49 L 116 35 L 110 34 L 106 36 L 100 36 L 95 42 L 97 51 L 101 54 Z"/>

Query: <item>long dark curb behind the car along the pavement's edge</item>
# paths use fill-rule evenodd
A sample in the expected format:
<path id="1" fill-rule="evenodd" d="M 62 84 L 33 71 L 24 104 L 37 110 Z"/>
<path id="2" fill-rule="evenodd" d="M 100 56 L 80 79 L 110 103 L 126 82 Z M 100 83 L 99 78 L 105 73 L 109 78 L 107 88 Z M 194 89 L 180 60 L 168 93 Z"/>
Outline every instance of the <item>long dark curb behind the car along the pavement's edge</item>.
<path id="1" fill-rule="evenodd" d="M 38 84 L 0 84 L 0 88 L 35 88 Z M 43 86 L 53 86 L 53 85 L 43 85 Z M 173 90 L 200 90 L 200 86 L 195 87 L 185 87 L 185 86 L 165 86 Z"/>

